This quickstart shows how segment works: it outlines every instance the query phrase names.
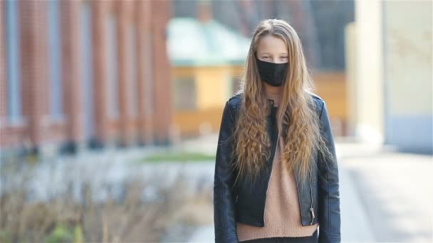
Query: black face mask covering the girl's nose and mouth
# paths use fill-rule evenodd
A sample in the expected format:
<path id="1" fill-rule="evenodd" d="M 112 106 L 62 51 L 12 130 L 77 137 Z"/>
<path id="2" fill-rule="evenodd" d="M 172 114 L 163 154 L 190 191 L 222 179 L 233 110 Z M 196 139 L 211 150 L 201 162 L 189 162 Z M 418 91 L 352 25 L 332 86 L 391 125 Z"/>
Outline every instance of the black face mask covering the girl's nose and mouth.
<path id="1" fill-rule="evenodd" d="M 268 63 L 256 58 L 261 80 L 274 87 L 281 86 L 286 79 L 287 63 Z"/>

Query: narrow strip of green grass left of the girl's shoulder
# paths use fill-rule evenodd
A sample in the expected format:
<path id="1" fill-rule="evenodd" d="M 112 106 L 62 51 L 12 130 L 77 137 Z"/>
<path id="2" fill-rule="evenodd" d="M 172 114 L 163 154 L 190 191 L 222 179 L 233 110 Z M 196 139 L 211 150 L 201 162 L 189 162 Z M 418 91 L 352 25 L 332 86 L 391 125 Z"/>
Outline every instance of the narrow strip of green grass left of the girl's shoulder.
<path id="1" fill-rule="evenodd" d="M 155 162 L 200 162 L 200 161 L 215 161 L 214 155 L 206 153 L 194 153 L 194 152 L 167 152 L 167 153 L 154 153 L 150 156 L 142 158 L 142 163 L 155 163 Z"/>

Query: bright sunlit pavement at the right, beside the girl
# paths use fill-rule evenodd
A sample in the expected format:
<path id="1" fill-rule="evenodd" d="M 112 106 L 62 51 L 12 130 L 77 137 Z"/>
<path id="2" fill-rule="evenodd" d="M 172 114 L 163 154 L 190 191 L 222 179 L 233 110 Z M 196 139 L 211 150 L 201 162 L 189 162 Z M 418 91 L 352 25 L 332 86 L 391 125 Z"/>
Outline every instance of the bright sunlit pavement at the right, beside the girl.
<path id="1" fill-rule="evenodd" d="M 433 242 L 432 162 L 387 152 L 343 159 L 375 242 Z"/>

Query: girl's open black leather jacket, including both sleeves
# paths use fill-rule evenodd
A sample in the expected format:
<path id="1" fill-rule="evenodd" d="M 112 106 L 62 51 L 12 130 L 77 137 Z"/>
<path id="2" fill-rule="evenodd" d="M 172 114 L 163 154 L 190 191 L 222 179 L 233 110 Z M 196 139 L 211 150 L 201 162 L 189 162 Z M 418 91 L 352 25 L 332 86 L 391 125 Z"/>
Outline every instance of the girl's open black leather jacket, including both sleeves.
<path id="1" fill-rule="evenodd" d="M 322 136 L 324 136 L 326 145 L 335 157 L 333 134 L 325 102 L 317 95 L 311 95 L 313 95 L 315 107 L 319 112 Z M 239 242 L 236 233 L 236 222 L 264 227 L 266 190 L 271 176 L 276 144 L 278 144 L 280 136 L 275 122 L 276 107 L 272 107 L 271 114 L 266 117 L 266 132 L 268 132 L 272 141 L 271 158 L 266 161 L 267 169 L 260 174 L 260 179 L 253 184 L 253 190 L 251 190 L 251 185 L 243 183 L 242 180 L 240 183 L 236 183 L 236 186 L 233 186 L 235 175 L 228 170 L 229 163 L 232 163 L 229 158 L 232 148 L 229 135 L 234 128 L 234 121 L 239 112 L 241 99 L 241 94 L 231 97 L 225 104 L 221 119 L 214 173 L 215 242 Z M 287 128 L 283 127 L 283 131 L 286 130 Z M 318 154 L 317 151 L 315 154 Z M 317 169 L 314 169 L 309 174 L 303 190 L 301 190 L 302 182 L 296 176 L 301 223 L 302 225 L 313 225 L 319 222 L 319 242 L 340 242 L 338 166 L 336 163 L 328 163 L 329 161 L 319 161 L 324 159 L 322 156 L 315 156 L 315 158 L 317 158 Z"/>

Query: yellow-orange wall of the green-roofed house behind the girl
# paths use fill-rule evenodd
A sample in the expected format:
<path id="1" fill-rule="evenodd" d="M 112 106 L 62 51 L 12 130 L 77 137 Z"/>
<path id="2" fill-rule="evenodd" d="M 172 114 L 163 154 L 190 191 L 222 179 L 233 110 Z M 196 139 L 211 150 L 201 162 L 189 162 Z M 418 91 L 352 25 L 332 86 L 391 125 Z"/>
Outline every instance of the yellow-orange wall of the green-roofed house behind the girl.
<path id="1" fill-rule="evenodd" d="M 172 80 L 194 76 L 197 85 L 197 110 L 174 111 L 174 127 L 181 136 L 219 130 L 222 109 L 233 92 L 231 79 L 240 77 L 242 70 L 241 66 L 174 68 Z M 318 72 L 313 80 L 315 93 L 328 105 L 335 136 L 344 136 L 348 117 L 344 72 Z"/>

